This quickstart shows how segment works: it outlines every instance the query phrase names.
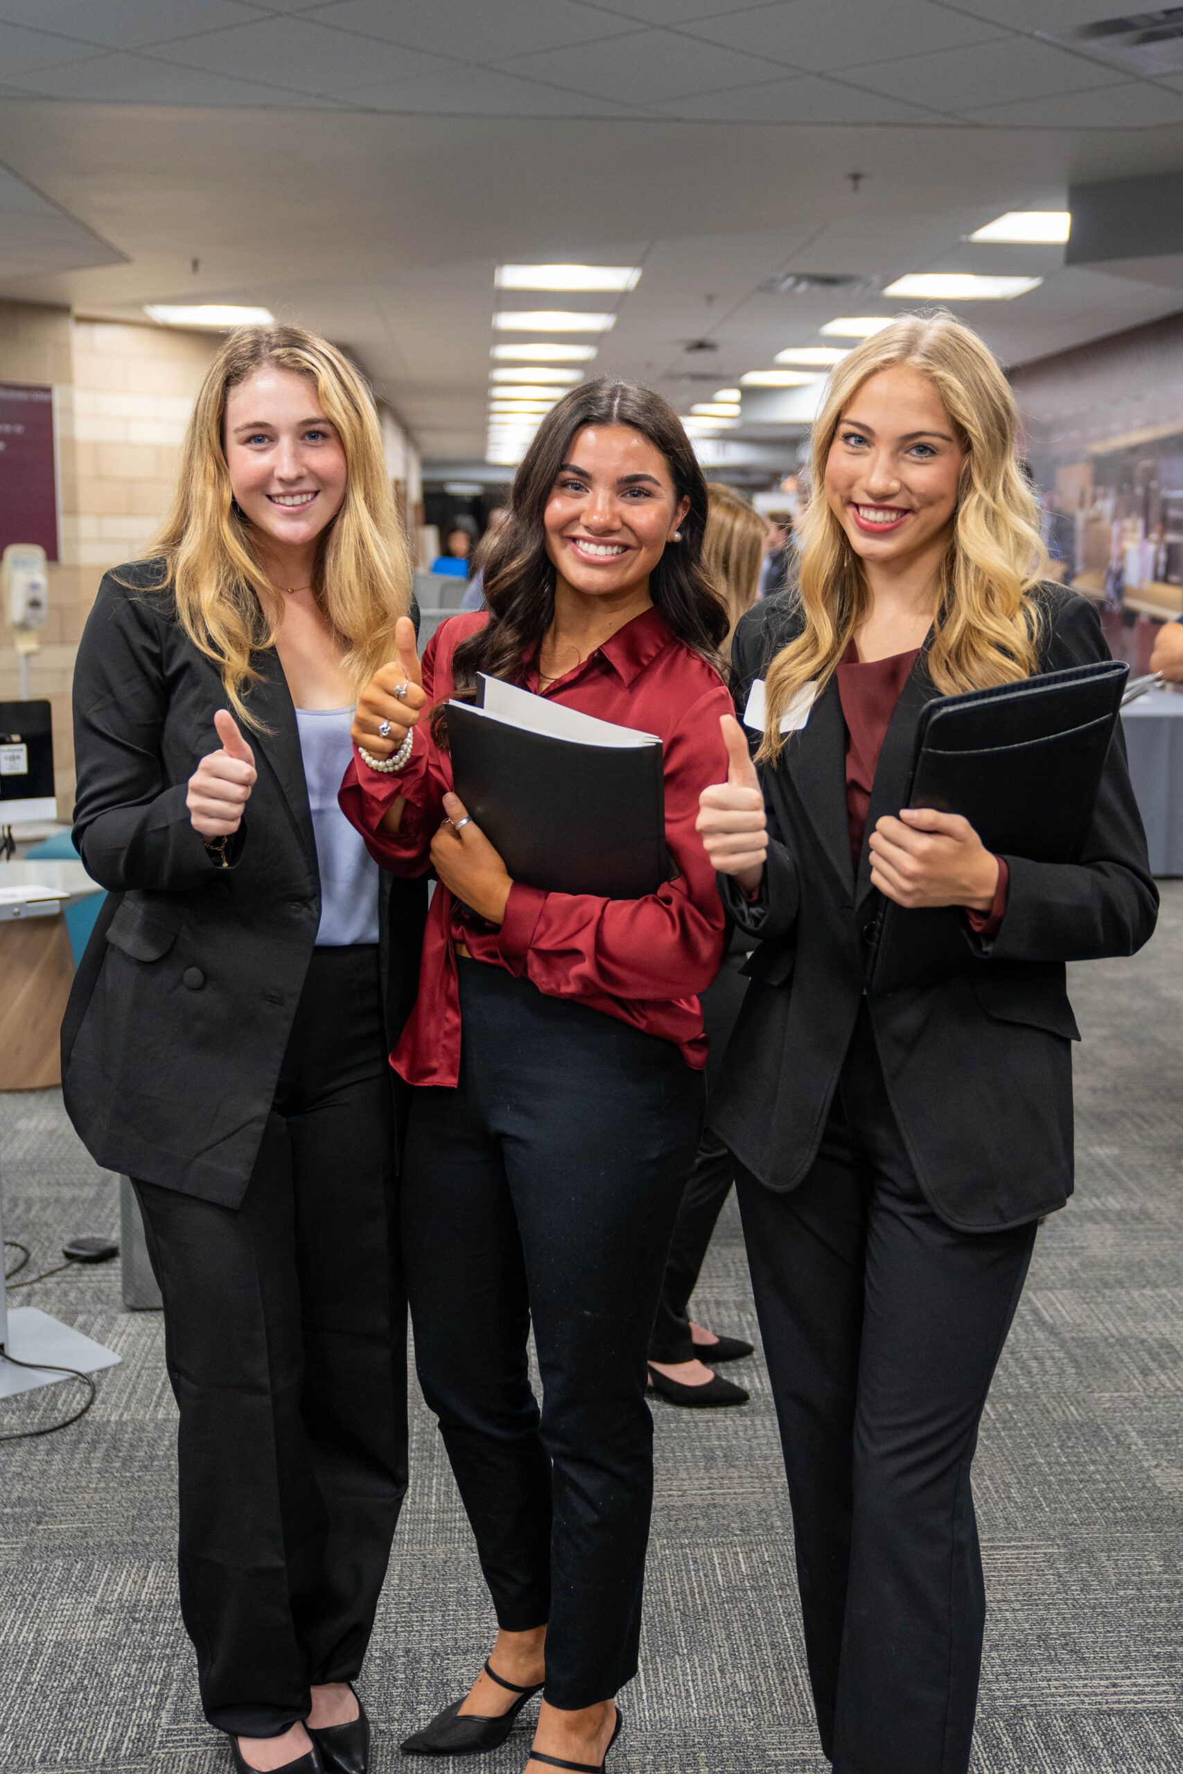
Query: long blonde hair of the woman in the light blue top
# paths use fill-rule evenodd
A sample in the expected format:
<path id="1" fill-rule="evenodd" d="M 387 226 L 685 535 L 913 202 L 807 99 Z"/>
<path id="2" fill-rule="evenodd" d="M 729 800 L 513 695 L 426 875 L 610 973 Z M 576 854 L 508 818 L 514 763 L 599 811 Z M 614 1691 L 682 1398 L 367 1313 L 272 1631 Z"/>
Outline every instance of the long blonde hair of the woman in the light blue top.
<path id="1" fill-rule="evenodd" d="M 177 621 L 215 662 L 234 713 L 252 727 L 261 722 L 252 718 L 248 690 L 262 674 L 250 655 L 275 646 L 280 612 L 234 502 L 222 431 L 229 390 L 264 367 L 305 376 L 341 438 L 346 495 L 317 539 L 312 593 L 348 649 L 344 671 L 358 688 L 394 656 L 394 624 L 411 605 L 411 557 L 365 381 L 335 346 L 300 326 L 236 328 L 193 403 L 172 509 L 153 552 L 165 557 L 163 585 Z"/>

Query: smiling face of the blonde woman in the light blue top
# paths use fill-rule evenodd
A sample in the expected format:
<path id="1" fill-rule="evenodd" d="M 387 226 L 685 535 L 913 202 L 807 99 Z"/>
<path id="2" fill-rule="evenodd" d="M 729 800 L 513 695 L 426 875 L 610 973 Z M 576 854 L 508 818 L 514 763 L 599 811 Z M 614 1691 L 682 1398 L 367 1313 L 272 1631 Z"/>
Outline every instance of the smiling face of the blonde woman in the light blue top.
<path id="1" fill-rule="evenodd" d="M 348 465 L 316 383 L 287 369 L 259 369 L 231 389 L 223 417 L 225 463 L 243 514 L 264 552 L 300 555 L 337 516 Z"/>

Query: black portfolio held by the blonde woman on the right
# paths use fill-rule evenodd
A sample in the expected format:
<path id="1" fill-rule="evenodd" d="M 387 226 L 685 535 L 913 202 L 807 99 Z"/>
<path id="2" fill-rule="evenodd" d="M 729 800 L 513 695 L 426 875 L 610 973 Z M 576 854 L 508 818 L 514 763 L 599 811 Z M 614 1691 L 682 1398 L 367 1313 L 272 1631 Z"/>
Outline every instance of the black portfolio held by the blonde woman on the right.
<path id="1" fill-rule="evenodd" d="M 905 805 L 965 814 L 995 855 L 1075 862 L 1128 671 L 1100 660 L 926 703 Z M 883 899 L 867 992 L 945 979 L 972 960 L 961 907 Z"/>

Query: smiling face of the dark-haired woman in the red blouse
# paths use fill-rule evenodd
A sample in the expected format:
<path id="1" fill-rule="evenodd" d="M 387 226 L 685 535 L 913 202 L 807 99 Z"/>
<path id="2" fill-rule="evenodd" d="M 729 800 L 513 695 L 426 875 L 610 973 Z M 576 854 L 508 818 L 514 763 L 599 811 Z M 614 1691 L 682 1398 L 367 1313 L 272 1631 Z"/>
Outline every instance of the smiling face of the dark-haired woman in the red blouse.
<path id="1" fill-rule="evenodd" d="M 631 426 L 584 426 L 546 500 L 546 553 L 589 596 L 647 587 L 690 511 L 665 456 Z"/>

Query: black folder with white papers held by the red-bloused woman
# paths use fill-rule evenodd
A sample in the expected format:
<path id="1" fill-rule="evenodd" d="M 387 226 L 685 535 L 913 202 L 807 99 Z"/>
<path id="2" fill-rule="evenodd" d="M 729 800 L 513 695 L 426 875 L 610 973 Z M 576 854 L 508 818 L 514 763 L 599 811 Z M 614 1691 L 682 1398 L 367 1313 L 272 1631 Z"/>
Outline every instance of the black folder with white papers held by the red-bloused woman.
<path id="1" fill-rule="evenodd" d="M 670 875 L 662 742 L 498 679 L 482 692 L 481 708 L 447 704 L 452 781 L 511 876 L 605 899 L 656 892 Z"/>

